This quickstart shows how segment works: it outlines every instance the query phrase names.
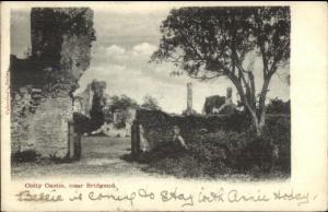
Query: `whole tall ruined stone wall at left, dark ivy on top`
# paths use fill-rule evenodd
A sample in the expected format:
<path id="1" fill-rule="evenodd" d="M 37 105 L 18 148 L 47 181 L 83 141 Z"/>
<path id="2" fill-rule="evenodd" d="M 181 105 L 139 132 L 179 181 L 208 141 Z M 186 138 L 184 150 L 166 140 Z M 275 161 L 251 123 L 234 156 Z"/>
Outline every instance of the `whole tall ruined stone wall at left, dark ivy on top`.
<path id="1" fill-rule="evenodd" d="M 65 157 L 73 91 L 89 68 L 95 40 L 93 11 L 34 8 L 31 33 L 32 56 L 11 57 L 12 152 L 34 150 L 45 157 Z M 37 104 L 34 90 L 40 91 Z"/>

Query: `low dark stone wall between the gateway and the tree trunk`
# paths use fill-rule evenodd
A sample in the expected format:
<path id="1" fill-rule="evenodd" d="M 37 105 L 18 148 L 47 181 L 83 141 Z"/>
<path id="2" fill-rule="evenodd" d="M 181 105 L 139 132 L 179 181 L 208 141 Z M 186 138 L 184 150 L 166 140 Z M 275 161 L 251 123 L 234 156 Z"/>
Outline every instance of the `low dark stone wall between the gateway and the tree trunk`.
<path id="1" fill-rule="evenodd" d="M 243 129 L 242 115 L 232 116 L 178 116 L 168 115 L 160 110 L 139 109 L 132 125 L 132 151 L 149 151 L 159 143 L 173 140 L 173 127 L 180 128 L 180 134 L 188 142 L 195 133 L 216 132 L 220 130 L 241 131 Z M 136 136 L 137 134 L 137 136 Z M 138 146 L 138 148 L 136 148 Z"/>

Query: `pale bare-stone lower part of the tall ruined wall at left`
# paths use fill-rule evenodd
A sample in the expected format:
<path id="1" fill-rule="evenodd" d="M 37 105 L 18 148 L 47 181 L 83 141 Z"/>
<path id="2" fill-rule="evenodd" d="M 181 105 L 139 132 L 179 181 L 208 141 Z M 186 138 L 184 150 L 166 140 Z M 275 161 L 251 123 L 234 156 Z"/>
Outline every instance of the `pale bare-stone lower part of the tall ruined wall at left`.
<path id="1" fill-rule="evenodd" d="M 17 97 L 20 96 L 20 97 Z M 42 98 L 37 106 L 28 93 L 16 94 L 12 107 L 12 152 L 35 150 L 42 156 L 66 156 L 68 121 L 72 117 L 70 96 Z"/>

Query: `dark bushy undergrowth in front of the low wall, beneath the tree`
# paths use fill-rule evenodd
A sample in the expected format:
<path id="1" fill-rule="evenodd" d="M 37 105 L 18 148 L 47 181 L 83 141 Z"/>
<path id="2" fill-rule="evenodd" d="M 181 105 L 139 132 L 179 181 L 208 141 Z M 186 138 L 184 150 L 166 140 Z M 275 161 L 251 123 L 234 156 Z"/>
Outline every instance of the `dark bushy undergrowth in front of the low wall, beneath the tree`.
<path id="1" fill-rule="evenodd" d="M 254 178 L 290 175 L 290 125 L 269 120 L 259 138 L 251 131 L 195 133 L 186 139 L 188 150 L 164 142 L 137 161 L 145 163 L 144 170 L 176 177 L 223 177 L 246 174 Z M 279 156 L 274 155 L 274 148 Z"/>

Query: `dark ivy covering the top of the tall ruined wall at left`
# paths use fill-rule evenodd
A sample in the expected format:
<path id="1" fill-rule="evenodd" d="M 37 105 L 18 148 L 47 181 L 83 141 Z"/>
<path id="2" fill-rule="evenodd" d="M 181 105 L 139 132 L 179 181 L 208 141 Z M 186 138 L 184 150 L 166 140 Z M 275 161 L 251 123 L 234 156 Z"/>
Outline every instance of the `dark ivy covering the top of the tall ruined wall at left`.
<path id="1" fill-rule="evenodd" d="M 81 69 L 84 70 L 89 67 L 90 47 L 92 42 L 96 39 L 93 27 L 93 11 L 91 9 L 33 8 L 31 22 L 32 42 L 35 46 L 31 59 L 42 61 L 36 63 L 38 69 L 50 68 L 40 73 L 52 84 L 67 81 L 72 76 L 70 74 L 72 60 L 74 60 L 72 55 L 78 55 L 80 58 L 80 61 L 77 62 L 78 67 L 81 66 Z M 67 48 L 71 47 L 63 46 L 67 45 L 65 44 L 66 39 L 73 44 L 74 50 L 68 50 Z M 74 76 L 74 80 L 77 80 L 77 76 Z"/>

